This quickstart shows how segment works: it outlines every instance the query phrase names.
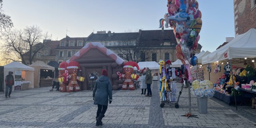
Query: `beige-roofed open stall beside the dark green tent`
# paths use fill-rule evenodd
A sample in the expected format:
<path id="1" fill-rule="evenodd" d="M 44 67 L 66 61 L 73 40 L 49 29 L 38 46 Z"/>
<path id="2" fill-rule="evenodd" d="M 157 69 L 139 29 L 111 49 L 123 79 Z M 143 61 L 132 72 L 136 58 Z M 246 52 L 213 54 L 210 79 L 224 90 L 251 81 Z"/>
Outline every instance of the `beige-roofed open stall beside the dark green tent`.
<path id="1" fill-rule="evenodd" d="M 43 61 L 35 61 L 29 65 L 35 69 L 34 71 L 34 87 L 52 86 L 55 68 L 46 65 Z"/>

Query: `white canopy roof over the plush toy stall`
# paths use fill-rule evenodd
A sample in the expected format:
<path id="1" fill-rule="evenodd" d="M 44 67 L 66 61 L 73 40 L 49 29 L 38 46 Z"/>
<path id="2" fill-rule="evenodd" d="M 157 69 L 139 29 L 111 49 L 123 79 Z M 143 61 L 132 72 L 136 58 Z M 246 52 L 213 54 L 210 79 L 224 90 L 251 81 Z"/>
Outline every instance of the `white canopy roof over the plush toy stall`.
<path id="1" fill-rule="evenodd" d="M 256 29 L 252 28 L 244 34 L 228 42 L 223 47 L 202 58 L 202 64 L 212 63 L 232 58 L 255 58 Z"/>

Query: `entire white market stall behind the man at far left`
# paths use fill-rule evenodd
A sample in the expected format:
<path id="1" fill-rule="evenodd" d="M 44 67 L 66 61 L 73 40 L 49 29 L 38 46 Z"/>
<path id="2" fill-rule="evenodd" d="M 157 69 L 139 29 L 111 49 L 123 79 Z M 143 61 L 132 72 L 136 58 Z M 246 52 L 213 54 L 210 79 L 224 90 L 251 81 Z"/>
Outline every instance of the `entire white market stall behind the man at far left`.
<path id="1" fill-rule="evenodd" d="M 13 90 L 34 88 L 34 68 L 20 62 L 11 62 L 4 66 L 4 76 L 8 75 L 9 71 L 13 72 L 14 76 Z"/>

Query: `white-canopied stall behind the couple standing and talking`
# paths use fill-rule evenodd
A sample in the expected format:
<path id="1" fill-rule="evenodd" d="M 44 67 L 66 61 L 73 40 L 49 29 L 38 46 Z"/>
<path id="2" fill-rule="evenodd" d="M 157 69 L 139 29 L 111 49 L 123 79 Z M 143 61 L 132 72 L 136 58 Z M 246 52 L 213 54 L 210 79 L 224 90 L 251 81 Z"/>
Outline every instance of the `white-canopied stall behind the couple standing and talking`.
<path id="1" fill-rule="evenodd" d="M 153 81 L 158 81 L 160 79 L 159 75 L 159 65 L 155 61 L 146 61 L 146 62 L 138 62 L 140 70 L 143 68 L 149 68 L 151 70 L 152 76 L 153 76 Z M 136 67 L 134 70 L 138 70 Z M 139 78 L 140 80 L 140 78 Z"/>

